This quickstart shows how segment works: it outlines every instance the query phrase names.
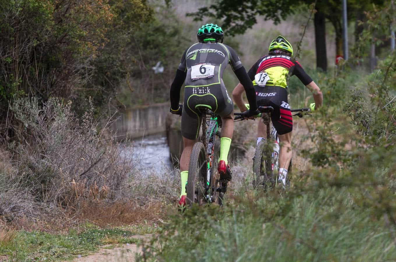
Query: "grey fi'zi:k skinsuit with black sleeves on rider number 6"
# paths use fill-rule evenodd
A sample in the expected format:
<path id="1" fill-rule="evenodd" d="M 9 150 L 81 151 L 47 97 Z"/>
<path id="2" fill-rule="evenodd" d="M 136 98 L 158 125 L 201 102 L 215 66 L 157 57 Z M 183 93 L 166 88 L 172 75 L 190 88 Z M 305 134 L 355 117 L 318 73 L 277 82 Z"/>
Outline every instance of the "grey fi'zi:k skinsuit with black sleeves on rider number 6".
<path id="1" fill-rule="evenodd" d="M 171 108 L 177 108 L 180 92 L 177 87 L 179 87 L 182 77 L 185 77 L 184 106 L 181 119 L 183 137 L 191 140 L 198 138 L 202 119 L 201 113 L 195 106 L 207 105 L 222 117 L 229 116 L 234 110 L 234 104 L 222 79 L 227 64 L 231 65 L 238 79 L 243 80 L 245 75 L 244 82 L 247 82 L 247 87 L 249 84 L 251 86 L 246 70 L 231 47 L 221 43 L 196 43 L 184 52 L 171 87 Z M 252 86 L 250 93 L 255 100 Z"/>

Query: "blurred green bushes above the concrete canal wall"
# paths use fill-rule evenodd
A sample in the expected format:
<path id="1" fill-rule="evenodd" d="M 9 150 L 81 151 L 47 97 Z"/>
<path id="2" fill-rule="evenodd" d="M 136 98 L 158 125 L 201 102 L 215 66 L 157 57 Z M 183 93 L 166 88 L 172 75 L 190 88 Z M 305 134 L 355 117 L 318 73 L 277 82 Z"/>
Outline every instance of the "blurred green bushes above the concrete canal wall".
<path id="1" fill-rule="evenodd" d="M 171 9 L 159 6 L 156 19 L 141 25 L 129 37 L 128 76 L 120 101 L 128 106 L 168 101 L 169 87 L 185 49 L 191 45 L 191 28 Z M 166 26 L 164 26 L 166 24 Z M 160 62 L 164 72 L 152 70 Z M 132 93 L 131 93 L 132 92 Z"/>

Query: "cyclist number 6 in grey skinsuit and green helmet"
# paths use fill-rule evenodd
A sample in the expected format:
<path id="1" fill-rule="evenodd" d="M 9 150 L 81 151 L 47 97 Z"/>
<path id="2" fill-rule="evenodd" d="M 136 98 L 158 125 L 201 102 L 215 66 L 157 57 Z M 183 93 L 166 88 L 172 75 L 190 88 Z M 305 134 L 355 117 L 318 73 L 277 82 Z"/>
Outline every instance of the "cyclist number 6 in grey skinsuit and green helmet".
<path id="1" fill-rule="evenodd" d="M 206 24 L 198 30 L 199 43 L 190 46 L 183 54 L 177 68 L 175 80 L 171 85 L 170 112 L 181 114 L 181 135 L 183 137 L 183 153 L 180 158 L 181 196 L 180 205 L 185 205 L 185 184 L 188 177 L 188 165 L 192 147 L 194 146 L 201 125 L 200 112 L 197 105 L 206 105 L 221 116 L 223 127 L 220 139 L 220 157 L 218 171 L 221 179 L 231 180 L 227 156 L 231 137 L 234 131 L 234 104 L 223 83 L 223 73 L 230 64 L 238 80 L 244 82 L 250 110 L 246 117 L 258 114 L 256 93 L 253 84 L 246 73 L 235 51 L 223 43 L 223 30 L 213 24 Z M 185 95 L 183 105 L 179 104 L 180 89 L 185 80 Z"/>

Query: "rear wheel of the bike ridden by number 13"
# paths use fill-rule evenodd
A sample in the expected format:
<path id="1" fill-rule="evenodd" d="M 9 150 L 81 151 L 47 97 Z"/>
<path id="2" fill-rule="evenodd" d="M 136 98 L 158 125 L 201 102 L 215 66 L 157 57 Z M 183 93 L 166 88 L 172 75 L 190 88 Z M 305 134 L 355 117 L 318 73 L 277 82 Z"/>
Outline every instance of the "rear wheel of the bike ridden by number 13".
<path id="1" fill-rule="evenodd" d="M 272 174 L 268 173 L 268 169 L 272 169 L 266 156 L 267 142 L 260 141 L 256 146 L 256 152 L 253 158 L 253 187 L 254 188 L 265 188 L 268 181 L 271 181 Z M 270 175 L 270 177 L 268 177 Z"/>

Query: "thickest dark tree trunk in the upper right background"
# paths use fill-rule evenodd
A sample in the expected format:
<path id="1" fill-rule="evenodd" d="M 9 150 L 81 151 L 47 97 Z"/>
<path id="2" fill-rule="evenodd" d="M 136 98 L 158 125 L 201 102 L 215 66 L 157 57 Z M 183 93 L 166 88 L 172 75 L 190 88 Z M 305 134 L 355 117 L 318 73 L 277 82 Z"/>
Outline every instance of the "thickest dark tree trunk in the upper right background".
<path id="1" fill-rule="evenodd" d="M 317 9 L 317 8 L 316 8 Z M 315 27 L 315 46 L 316 46 L 316 67 L 327 71 L 327 53 L 326 53 L 326 21 L 325 15 L 317 10 L 314 15 Z"/>

